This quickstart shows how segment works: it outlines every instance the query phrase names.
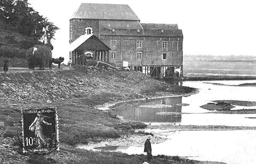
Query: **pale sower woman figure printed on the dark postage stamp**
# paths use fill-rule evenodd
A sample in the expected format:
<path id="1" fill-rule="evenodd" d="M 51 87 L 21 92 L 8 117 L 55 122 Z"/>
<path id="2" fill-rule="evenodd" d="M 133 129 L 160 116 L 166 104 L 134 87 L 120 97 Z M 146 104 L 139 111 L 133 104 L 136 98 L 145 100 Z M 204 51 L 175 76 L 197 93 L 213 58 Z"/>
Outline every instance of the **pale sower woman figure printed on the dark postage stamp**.
<path id="1" fill-rule="evenodd" d="M 41 113 L 37 113 L 34 122 L 29 126 L 29 130 L 35 132 L 38 143 L 37 148 L 42 148 L 43 145 L 47 145 L 47 147 L 49 147 L 50 144 L 49 139 L 47 139 L 47 137 L 43 134 L 43 124 L 50 126 L 52 123 L 47 123 L 46 120 L 44 120 L 45 117 L 46 116 L 43 116 Z"/>

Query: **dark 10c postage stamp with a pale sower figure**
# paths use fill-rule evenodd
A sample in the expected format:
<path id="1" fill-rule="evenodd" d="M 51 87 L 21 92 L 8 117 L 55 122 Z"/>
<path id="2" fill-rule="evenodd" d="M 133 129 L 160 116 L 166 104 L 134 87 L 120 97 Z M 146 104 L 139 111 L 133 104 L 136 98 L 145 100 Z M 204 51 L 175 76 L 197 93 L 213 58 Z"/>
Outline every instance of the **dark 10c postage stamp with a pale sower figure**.
<path id="1" fill-rule="evenodd" d="M 22 109 L 23 153 L 59 150 L 56 107 Z"/>

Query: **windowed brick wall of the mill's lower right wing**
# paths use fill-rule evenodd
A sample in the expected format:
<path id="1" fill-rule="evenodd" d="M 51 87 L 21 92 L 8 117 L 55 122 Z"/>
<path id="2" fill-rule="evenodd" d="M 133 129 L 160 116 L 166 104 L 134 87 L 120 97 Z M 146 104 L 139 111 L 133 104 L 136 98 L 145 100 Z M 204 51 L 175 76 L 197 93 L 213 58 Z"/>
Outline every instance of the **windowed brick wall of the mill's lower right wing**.
<path id="1" fill-rule="evenodd" d="M 182 65 L 182 38 L 175 37 L 136 37 L 136 36 L 101 36 L 101 40 L 109 46 L 109 62 L 115 63 L 128 61 L 129 65 Z M 142 47 L 137 47 L 137 41 L 142 42 Z M 167 42 L 167 48 L 162 48 L 162 42 Z M 177 51 L 179 47 L 179 51 Z M 111 51 L 116 52 L 116 58 L 113 59 Z M 141 59 L 137 59 L 137 52 L 141 53 Z M 166 59 L 163 59 L 163 53 L 166 53 Z M 122 55 L 121 55 L 122 54 Z M 122 56 L 122 59 L 121 59 Z"/>

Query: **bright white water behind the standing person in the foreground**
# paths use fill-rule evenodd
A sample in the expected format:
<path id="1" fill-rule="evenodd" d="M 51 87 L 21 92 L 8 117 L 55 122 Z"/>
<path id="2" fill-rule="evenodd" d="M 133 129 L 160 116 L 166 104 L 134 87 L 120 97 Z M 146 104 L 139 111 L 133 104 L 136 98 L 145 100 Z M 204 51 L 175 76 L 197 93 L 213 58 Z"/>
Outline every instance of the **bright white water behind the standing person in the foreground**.
<path id="1" fill-rule="evenodd" d="M 152 154 L 187 157 L 229 164 L 255 164 L 256 131 L 181 131 L 166 133 L 170 140 L 153 144 Z M 115 150 L 141 154 L 143 147 L 117 146 Z"/>

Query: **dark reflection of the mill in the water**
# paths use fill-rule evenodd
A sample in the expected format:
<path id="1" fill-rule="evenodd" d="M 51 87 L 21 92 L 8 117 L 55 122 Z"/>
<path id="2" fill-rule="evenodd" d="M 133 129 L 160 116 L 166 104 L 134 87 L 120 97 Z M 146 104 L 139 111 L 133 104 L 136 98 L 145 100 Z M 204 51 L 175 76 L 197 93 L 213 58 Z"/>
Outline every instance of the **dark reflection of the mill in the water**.
<path id="1" fill-rule="evenodd" d="M 115 107 L 116 115 L 141 122 L 181 122 L 182 97 L 122 103 Z"/>

